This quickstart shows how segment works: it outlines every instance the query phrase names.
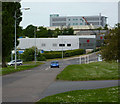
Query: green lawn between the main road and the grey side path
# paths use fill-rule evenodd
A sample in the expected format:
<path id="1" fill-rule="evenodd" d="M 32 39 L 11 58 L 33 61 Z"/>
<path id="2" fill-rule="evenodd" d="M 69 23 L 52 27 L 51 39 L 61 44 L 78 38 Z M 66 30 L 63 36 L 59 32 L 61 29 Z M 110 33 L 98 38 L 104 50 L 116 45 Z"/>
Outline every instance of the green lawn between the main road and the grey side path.
<path id="1" fill-rule="evenodd" d="M 69 65 L 56 77 L 57 80 L 112 80 L 118 79 L 118 63 L 94 62 Z"/>

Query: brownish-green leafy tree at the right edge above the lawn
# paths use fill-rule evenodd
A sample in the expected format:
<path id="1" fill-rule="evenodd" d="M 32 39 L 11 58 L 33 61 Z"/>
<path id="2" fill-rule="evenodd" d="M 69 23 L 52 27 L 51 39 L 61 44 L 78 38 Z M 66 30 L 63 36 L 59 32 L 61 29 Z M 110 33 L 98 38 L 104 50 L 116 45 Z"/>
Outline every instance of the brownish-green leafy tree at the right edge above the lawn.
<path id="1" fill-rule="evenodd" d="M 115 29 L 111 30 L 105 36 L 104 46 L 102 47 L 102 57 L 106 61 L 120 60 L 120 24 L 117 24 Z"/>

